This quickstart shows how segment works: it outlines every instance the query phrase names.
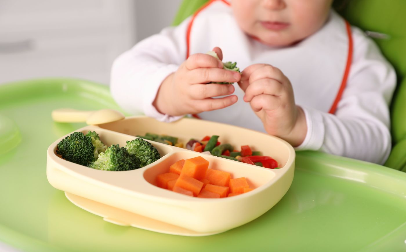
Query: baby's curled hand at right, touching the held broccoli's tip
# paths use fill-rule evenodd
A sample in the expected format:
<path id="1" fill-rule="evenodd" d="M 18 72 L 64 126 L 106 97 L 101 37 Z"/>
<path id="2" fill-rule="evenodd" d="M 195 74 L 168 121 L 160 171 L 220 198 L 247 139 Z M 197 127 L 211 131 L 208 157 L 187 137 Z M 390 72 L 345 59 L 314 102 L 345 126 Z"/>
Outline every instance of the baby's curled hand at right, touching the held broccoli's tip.
<path id="1" fill-rule="evenodd" d="M 292 85 L 279 70 L 268 64 L 254 64 L 242 72 L 238 83 L 244 101 L 251 104 L 265 130 L 293 146 L 299 146 L 307 132 L 302 108 L 296 106 Z"/>

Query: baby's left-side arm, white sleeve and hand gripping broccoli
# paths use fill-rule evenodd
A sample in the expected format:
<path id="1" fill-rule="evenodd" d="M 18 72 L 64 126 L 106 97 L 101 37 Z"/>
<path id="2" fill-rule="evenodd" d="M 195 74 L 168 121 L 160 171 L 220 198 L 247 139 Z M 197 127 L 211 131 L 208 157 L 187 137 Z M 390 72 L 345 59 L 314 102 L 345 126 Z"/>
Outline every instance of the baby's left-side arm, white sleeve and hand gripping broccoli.
<path id="1" fill-rule="evenodd" d="M 230 95 L 232 85 L 204 83 L 233 83 L 240 80 L 240 74 L 222 69 L 221 61 L 210 55 L 194 54 L 185 60 L 187 24 L 188 20 L 162 30 L 114 61 L 110 89 L 122 108 L 174 121 L 184 114 L 224 108 L 237 101 Z M 221 55 L 219 48 L 215 50 Z M 220 95 L 230 96 L 211 98 Z"/>

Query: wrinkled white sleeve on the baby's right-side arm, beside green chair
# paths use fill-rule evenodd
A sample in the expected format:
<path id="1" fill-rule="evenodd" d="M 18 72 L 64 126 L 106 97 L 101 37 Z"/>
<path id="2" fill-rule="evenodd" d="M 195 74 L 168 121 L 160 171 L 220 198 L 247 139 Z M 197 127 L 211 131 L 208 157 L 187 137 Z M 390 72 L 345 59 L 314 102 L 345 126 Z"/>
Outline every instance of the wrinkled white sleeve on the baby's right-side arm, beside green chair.
<path id="1" fill-rule="evenodd" d="M 389 102 L 396 74 L 360 30 L 353 28 L 353 39 L 352 66 L 336 113 L 302 107 L 307 135 L 296 150 L 321 150 L 383 164 L 391 151 Z"/>

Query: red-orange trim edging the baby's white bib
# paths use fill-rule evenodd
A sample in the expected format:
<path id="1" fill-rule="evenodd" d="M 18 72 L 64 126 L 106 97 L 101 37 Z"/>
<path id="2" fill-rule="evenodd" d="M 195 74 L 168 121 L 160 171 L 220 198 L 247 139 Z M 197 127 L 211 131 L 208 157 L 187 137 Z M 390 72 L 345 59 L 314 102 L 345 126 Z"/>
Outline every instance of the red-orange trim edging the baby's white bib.
<path id="1" fill-rule="evenodd" d="M 201 6 L 193 14 L 192 19 L 190 19 L 189 24 L 188 24 L 188 30 L 186 31 L 186 59 L 189 57 L 189 53 L 190 53 L 190 31 L 192 30 L 193 21 L 201 11 L 203 11 L 205 8 L 207 8 L 207 6 L 209 6 L 210 4 L 212 4 L 215 1 L 217 1 L 217 0 L 210 0 L 209 2 L 207 2 L 206 4 Z M 220 0 L 220 1 L 222 1 L 225 4 L 227 4 L 228 6 L 230 6 L 230 3 L 227 2 L 226 0 Z M 351 63 L 352 63 L 353 42 L 352 42 L 351 25 L 350 25 L 350 23 L 348 23 L 348 21 L 346 21 L 346 30 L 347 30 L 347 35 L 348 35 L 348 55 L 347 55 L 346 69 L 344 70 L 343 79 L 341 80 L 341 85 L 340 85 L 338 93 L 335 97 L 335 100 L 333 102 L 333 105 L 331 106 L 330 110 L 328 111 L 330 114 L 334 114 L 335 111 L 337 110 L 337 105 L 338 105 L 339 101 L 341 100 L 341 96 L 343 95 L 344 89 L 346 88 L 346 85 L 347 85 L 348 74 L 350 73 L 350 68 L 351 68 Z M 200 116 L 197 114 L 192 114 L 192 116 L 197 119 L 201 119 Z"/>

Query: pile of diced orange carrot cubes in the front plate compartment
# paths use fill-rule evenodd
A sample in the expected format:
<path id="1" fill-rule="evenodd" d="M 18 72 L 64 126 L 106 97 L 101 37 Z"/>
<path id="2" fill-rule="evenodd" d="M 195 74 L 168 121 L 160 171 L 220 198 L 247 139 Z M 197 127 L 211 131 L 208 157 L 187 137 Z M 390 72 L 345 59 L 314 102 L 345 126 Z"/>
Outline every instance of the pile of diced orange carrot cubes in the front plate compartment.
<path id="1" fill-rule="evenodd" d="M 164 189 L 199 198 L 225 198 L 252 191 L 247 180 L 232 178 L 228 172 L 209 169 L 203 157 L 181 159 L 159 174 L 156 184 Z"/>

